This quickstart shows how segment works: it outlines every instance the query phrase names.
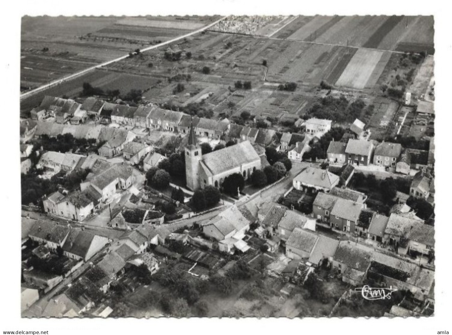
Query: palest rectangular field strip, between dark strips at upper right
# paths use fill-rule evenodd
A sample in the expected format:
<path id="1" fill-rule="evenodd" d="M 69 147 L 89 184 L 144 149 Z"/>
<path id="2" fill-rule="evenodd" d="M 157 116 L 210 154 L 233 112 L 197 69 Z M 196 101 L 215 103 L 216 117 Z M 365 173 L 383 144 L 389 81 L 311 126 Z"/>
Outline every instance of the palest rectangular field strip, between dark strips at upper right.
<path id="1" fill-rule="evenodd" d="M 382 55 L 382 51 L 359 49 L 339 77 L 336 85 L 363 89 Z"/>

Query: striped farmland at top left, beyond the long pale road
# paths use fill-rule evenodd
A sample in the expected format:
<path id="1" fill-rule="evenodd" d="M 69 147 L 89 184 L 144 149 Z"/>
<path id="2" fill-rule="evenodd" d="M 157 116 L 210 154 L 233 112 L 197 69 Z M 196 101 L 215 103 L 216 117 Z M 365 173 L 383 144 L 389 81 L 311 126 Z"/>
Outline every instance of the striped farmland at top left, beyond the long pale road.
<path id="1" fill-rule="evenodd" d="M 36 88 L 137 48 L 168 41 L 218 18 L 24 16 L 21 90 Z"/>

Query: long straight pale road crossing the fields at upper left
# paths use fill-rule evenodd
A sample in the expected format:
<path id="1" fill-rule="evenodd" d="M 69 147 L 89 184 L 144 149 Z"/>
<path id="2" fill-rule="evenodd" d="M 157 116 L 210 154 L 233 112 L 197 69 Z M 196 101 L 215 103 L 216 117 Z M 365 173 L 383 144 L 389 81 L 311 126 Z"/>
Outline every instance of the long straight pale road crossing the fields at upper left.
<path id="1" fill-rule="evenodd" d="M 168 44 L 170 44 L 170 43 L 179 41 L 179 40 L 184 39 L 184 38 L 186 38 L 186 37 L 189 37 L 189 36 L 192 36 L 192 35 L 201 33 L 202 31 L 204 31 L 204 30 L 206 30 L 206 29 L 208 29 L 208 28 L 214 26 L 215 24 L 217 24 L 218 22 L 220 22 L 221 20 L 223 20 L 223 19 L 225 19 L 225 18 L 226 18 L 226 16 L 223 17 L 223 18 L 221 18 L 221 19 L 219 19 L 219 20 L 217 20 L 217 21 L 215 21 L 215 22 L 213 22 L 213 23 L 211 23 L 211 24 L 209 24 L 209 25 L 207 25 L 207 26 L 205 26 L 205 27 L 203 27 L 203 28 L 201 28 L 201 29 L 198 29 L 198 30 L 195 30 L 195 31 L 193 31 L 193 32 L 191 32 L 191 33 L 188 33 L 188 34 L 185 34 L 185 35 L 182 35 L 182 36 L 173 38 L 173 39 L 170 40 L 170 41 L 166 41 L 166 42 L 163 42 L 163 43 L 160 43 L 160 44 L 156 44 L 156 45 L 151 46 L 151 47 L 147 47 L 147 48 L 141 49 L 140 52 L 145 52 L 145 51 L 148 51 L 148 50 L 152 50 L 152 49 L 156 49 L 156 48 L 159 48 L 159 47 L 163 47 L 163 46 L 165 46 L 165 45 L 168 45 Z M 103 66 L 107 66 L 107 65 L 113 64 L 113 63 L 115 63 L 115 62 L 118 62 L 118 61 L 120 61 L 120 60 L 126 59 L 128 56 L 129 56 L 129 55 L 127 54 L 127 55 L 121 56 L 121 57 L 116 58 L 116 59 L 113 59 L 113 60 L 108 60 L 108 61 L 106 61 L 106 62 L 104 62 L 104 63 L 102 63 L 102 64 L 94 65 L 94 66 L 89 67 L 88 69 L 85 69 L 85 70 L 76 72 L 76 73 L 74 73 L 74 74 L 70 74 L 70 75 L 68 75 L 68 76 L 66 76 L 66 77 L 64 77 L 64 78 L 56 79 L 56 80 L 50 82 L 49 84 L 45 84 L 45 85 L 42 85 L 42 86 L 40 86 L 40 87 L 38 87 L 38 88 L 32 89 L 31 91 L 22 93 L 22 94 L 20 95 L 20 100 L 22 100 L 22 99 L 24 99 L 24 98 L 27 98 L 27 97 L 29 97 L 29 96 L 32 96 L 33 94 L 39 93 L 39 92 L 41 92 L 41 91 L 43 91 L 43 90 L 45 90 L 45 89 L 47 89 L 47 88 L 50 88 L 50 87 L 59 85 L 59 84 L 61 84 L 61 83 L 64 83 L 65 81 L 68 81 L 68 80 L 74 79 L 74 78 L 76 78 L 76 77 L 79 77 L 79 76 L 82 75 L 82 74 L 86 74 L 86 73 L 88 73 L 88 72 L 90 72 L 90 71 L 93 71 L 93 70 L 95 70 L 95 69 L 99 69 L 99 68 L 101 68 L 101 67 L 103 67 Z"/>

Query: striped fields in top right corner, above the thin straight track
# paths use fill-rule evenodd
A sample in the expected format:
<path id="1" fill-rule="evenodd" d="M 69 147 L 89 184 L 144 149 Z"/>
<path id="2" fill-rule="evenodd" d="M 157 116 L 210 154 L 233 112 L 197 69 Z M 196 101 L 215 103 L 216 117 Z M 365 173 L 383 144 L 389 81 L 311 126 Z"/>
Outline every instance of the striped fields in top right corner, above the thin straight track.
<path id="1" fill-rule="evenodd" d="M 380 50 L 433 48 L 432 16 L 298 16 L 273 37 Z"/>

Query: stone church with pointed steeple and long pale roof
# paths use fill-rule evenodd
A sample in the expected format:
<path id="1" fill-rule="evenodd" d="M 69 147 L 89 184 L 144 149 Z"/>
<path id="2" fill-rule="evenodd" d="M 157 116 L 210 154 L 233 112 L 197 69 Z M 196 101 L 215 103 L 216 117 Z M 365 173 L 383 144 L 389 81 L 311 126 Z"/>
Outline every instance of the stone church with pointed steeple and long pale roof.
<path id="1" fill-rule="evenodd" d="M 250 141 L 202 155 L 193 126 L 185 147 L 185 175 L 188 189 L 194 191 L 206 186 L 219 187 L 224 179 L 240 173 L 245 180 L 261 168 L 261 158 Z"/>

